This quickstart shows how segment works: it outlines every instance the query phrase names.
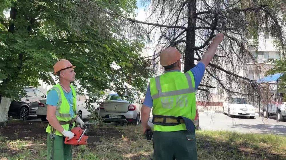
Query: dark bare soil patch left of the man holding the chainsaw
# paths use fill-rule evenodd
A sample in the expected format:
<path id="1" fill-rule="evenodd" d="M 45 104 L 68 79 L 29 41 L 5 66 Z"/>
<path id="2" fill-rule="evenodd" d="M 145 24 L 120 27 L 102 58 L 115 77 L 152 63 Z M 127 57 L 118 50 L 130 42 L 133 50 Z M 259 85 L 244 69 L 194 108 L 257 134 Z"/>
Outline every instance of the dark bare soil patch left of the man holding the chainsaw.
<path id="1" fill-rule="evenodd" d="M 13 121 L 6 127 L 0 126 L 0 133 L 7 140 L 23 139 L 41 139 L 45 141 L 47 133 L 45 132 L 47 123 L 36 121 Z"/>

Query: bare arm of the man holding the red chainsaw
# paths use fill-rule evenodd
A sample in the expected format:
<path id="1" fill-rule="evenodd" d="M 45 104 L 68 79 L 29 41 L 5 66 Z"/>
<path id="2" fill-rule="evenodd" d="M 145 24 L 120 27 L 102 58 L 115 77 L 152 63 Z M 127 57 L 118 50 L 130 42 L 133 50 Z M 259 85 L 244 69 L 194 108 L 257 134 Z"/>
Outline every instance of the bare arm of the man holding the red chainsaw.
<path id="1" fill-rule="evenodd" d="M 63 131 L 63 127 L 59 124 L 57 117 L 55 116 L 55 111 L 57 107 L 52 105 L 47 105 L 47 120 L 49 124 L 59 132 Z"/>

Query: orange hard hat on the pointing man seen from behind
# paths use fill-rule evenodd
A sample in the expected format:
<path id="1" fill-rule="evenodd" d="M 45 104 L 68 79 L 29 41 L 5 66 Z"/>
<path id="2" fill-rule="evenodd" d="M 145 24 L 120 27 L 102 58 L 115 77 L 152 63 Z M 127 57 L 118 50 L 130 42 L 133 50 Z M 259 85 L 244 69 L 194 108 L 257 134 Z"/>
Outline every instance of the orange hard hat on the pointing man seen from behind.
<path id="1" fill-rule="evenodd" d="M 168 47 L 160 54 L 160 64 L 162 66 L 168 66 L 179 61 L 181 57 L 181 53 L 176 48 Z"/>

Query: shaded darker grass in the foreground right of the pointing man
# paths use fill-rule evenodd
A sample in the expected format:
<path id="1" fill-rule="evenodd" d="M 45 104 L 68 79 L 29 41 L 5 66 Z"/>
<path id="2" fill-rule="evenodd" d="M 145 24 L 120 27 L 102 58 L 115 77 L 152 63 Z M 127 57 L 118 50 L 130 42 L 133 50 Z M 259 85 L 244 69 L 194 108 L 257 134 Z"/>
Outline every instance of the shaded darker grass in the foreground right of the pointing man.
<path id="1" fill-rule="evenodd" d="M 226 141 L 197 134 L 198 159 L 269 159 L 284 160 L 286 155 L 271 150 L 275 146 L 261 146 L 238 140 L 240 135 L 229 133 Z M 213 158 L 211 158 L 213 157 Z M 215 158 L 214 158 L 215 157 Z"/>

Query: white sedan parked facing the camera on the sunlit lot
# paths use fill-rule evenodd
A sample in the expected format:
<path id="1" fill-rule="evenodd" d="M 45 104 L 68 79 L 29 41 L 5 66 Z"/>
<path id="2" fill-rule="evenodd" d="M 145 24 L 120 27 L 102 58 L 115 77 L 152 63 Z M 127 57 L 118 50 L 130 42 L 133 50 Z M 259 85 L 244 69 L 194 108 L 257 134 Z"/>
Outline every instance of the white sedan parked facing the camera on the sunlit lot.
<path id="1" fill-rule="evenodd" d="M 253 119 L 255 117 L 255 109 L 246 98 L 227 97 L 225 102 L 223 102 L 223 114 L 228 114 L 229 117 L 235 115 Z"/>

